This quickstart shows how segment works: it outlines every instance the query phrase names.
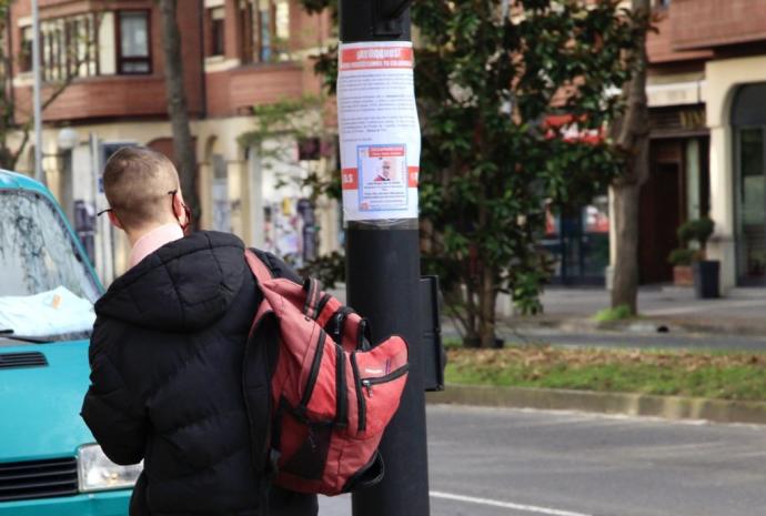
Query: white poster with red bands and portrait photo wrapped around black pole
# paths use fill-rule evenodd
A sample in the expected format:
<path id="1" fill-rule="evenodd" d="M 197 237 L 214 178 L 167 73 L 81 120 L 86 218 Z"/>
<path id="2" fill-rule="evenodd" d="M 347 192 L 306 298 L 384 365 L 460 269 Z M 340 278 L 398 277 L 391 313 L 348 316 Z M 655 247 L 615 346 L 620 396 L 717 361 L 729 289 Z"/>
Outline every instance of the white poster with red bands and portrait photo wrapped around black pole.
<path id="1" fill-rule="evenodd" d="M 417 217 L 421 131 L 412 43 L 341 44 L 337 123 L 346 221 Z"/>

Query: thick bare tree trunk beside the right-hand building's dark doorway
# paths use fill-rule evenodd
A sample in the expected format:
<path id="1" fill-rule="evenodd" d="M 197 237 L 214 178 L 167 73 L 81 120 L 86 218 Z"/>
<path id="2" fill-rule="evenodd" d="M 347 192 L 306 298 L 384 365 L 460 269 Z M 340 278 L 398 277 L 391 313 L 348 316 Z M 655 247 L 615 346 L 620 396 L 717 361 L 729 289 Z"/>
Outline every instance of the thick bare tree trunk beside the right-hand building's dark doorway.
<path id="1" fill-rule="evenodd" d="M 646 101 L 646 31 L 649 0 L 633 0 L 633 10 L 645 16 L 639 36 L 635 72 L 625 84 L 627 110 L 615 124 L 617 148 L 625 154 L 625 170 L 612 184 L 617 229 L 612 287 L 612 307 L 628 306 L 636 314 L 638 301 L 638 214 L 641 185 L 648 176 L 649 121 Z"/>

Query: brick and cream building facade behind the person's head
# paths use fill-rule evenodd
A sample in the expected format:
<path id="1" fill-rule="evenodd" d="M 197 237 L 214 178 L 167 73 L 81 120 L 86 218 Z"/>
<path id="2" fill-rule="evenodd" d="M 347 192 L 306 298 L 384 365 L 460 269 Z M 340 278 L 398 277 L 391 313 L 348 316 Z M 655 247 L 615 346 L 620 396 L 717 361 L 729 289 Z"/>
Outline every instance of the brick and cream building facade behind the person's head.
<path id="1" fill-rule="evenodd" d="M 17 122 L 31 112 L 30 4 L 13 2 L 7 22 Z M 305 155 L 289 136 L 240 143 L 255 128 L 255 107 L 320 93 L 310 55 L 331 42 L 330 20 L 292 0 L 184 0 L 178 10 L 202 227 L 298 263 L 318 244 L 335 249 L 336 206 L 314 205 L 300 186 L 309 171 L 332 170 L 333 156 Z M 109 282 L 124 271 L 128 245 L 93 219 L 104 203 L 104 161 L 131 144 L 173 159 L 161 14 L 153 0 L 40 0 L 40 19 L 43 103 L 53 98 L 43 110 L 43 168 L 78 230 L 95 235 L 93 257 Z M 59 142 L 62 128 L 77 134 L 71 150 Z M 286 158 L 263 152 L 269 145 L 282 145 Z M 32 156 L 29 145 L 18 168 L 31 171 Z"/>

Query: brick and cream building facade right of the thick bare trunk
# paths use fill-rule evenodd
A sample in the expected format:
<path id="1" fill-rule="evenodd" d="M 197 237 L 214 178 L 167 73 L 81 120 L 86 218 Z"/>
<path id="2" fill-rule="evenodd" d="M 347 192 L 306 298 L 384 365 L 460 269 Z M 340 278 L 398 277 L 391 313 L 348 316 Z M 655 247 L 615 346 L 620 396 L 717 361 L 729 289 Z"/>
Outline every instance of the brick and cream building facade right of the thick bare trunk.
<path id="1" fill-rule="evenodd" d="M 766 284 L 766 0 L 662 0 L 649 39 L 652 172 L 642 192 L 642 277 L 668 281 L 686 220 L 716 224 L 707 254 L 725 291 Z"/>

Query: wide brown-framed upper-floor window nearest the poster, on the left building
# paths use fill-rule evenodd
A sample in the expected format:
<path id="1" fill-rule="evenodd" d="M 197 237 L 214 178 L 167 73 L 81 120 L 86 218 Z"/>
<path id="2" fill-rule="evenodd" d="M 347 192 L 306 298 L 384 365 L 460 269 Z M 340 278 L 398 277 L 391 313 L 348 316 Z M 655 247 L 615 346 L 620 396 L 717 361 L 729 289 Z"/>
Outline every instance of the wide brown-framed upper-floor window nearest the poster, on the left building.
<path id="1" fill-rule="evenodd" d="M 288 0 L 243 0 L 242 54 L 245 61 L 273 62 L 290 59 L 290 4 Z"/>

